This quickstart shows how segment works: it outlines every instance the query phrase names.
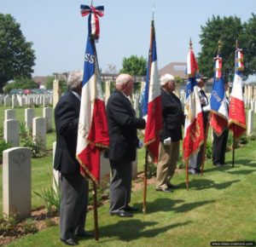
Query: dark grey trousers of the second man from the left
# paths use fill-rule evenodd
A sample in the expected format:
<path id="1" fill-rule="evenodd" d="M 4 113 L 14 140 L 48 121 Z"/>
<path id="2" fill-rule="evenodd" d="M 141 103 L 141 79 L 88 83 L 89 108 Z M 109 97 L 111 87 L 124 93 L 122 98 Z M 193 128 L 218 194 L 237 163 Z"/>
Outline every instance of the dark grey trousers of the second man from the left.
<path id="1" fill-rule="evenodd" d="M 117 163 L 110 160 L 112 180 L 110 182 L 110 213 L 124 210 L 131 202 L 132 163 Z"/>

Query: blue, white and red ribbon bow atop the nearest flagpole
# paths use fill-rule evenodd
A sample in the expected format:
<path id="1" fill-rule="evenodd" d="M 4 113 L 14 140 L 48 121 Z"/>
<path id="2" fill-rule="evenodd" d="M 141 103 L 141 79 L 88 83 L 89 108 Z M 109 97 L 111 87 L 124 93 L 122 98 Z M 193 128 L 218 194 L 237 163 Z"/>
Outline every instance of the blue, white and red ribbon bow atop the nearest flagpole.
<path id="1" fill-rule="evenodd" d="M 89 14 L 88 18 L 88 30 L 89 34 L 98 40 L 100 37 L 100 21 L 99 16 L 104 15 L 104 6 L 94 7 L 92 5 L 81 5 L 81 14 L 85 16 Z"/>

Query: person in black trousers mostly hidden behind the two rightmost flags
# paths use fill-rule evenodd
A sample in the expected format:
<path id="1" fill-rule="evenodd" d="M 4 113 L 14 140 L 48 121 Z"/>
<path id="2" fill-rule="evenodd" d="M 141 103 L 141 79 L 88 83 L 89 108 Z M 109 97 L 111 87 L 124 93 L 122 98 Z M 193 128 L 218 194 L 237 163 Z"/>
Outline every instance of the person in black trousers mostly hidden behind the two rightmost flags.
<path id="1" fill-rule="evenodd" d="M 224 83 L 224 90 L 229 89 L 229 83 Z M 225 101 L 227 102 L 227 108 L 229 111 L 230 100 L 227 95 L 225 95 Z M 224 166 L 225 164 L 225 152 L 227 148 L 227 142 L 229 137 L 229 128 L 225 128 L 221 135 L 216 135 L 213 131 L 213 141 L 212 141 L 212 163 L 218 167 Z"/>

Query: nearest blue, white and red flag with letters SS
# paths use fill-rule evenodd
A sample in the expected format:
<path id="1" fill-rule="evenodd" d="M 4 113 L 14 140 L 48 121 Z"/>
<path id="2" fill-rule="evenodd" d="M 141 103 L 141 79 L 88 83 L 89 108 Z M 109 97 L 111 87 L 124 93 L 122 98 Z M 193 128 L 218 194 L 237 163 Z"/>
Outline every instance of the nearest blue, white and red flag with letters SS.
<path id="1" fill-rule="evenodd" d="M 100 152 L 108 147 L 108 122 L 93 38 L 88 35 L 84 55 L 84 78 L 79 116 L 77 158 L 80 173 L 100 180 Z"/>

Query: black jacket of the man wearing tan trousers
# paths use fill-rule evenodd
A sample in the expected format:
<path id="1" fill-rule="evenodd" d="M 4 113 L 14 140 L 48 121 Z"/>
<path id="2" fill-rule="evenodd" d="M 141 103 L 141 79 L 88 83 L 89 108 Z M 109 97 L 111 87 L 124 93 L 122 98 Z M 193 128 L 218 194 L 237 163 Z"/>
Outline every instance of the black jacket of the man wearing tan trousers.
<path id="1" fill-rule="evenodd" d="M 161 89 L 162 101 L 162 123 L 163 129 L 160 132 L 160 141 L 171 137 L 172 141 L 182 140 L 182 125 L 184 114 L 181 101 L 173 93 L 167 93 Z"/>

